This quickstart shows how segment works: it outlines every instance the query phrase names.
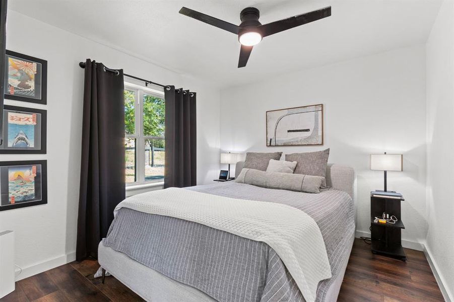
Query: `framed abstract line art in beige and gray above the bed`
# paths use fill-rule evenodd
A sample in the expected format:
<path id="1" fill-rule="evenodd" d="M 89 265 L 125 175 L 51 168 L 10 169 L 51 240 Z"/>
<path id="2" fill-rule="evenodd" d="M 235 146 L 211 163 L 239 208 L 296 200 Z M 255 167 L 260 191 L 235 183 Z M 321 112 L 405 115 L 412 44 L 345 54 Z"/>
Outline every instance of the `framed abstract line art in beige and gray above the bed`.
<path id="1" fill-rule="evenodd" d="M 322 104 L 267 111 L 267 146 L 322 144 Z"/>

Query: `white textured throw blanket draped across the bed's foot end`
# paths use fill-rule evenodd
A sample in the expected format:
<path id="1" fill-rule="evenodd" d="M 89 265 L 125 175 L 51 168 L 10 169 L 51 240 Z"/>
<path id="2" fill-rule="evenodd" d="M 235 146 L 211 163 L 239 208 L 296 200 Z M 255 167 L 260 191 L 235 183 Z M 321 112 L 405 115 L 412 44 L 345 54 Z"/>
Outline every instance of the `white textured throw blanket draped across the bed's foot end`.
<path id="1" fill-rule="evenodd" d="M 134 195 L 122 207 L 171 216 L 262 241 L 284 262 L 306 301 L 314 301 L 318 282 L 331 278 L 325 243 L 315 221 L 294 207 L 168 188 Z"/>

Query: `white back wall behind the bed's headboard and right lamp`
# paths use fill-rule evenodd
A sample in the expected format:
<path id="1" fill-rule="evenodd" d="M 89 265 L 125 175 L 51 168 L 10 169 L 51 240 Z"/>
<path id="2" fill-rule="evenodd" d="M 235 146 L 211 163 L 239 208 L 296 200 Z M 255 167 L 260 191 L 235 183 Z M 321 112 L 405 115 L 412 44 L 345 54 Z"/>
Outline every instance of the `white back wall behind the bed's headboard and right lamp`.
<path id="1" fill-rule="evenodd" d="M 425 48 L 398 49 L 290 73 L 221 91 L 221 150 L 310 152 L 331 148 L 330 163 L 357 175 L 357 230 L 369 232 L 370 191 L 383 173 L 369 170 L 369 154 L 404 155 L 404 172 L 388 172 L 388 189 L 402 192 L 402 232 L 421 249 L 425 219 Z M 266 111 L 323 104 L 323 146 L 266 146 Z"/>

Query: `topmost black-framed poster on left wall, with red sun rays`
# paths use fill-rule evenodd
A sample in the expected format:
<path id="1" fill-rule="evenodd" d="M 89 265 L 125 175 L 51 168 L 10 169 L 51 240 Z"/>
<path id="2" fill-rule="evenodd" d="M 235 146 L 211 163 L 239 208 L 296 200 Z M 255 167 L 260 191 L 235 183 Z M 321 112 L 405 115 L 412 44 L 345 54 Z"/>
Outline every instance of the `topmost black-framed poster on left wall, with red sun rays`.
<path id="1" fill-rule="evenodd" d="M 5 99 L 47 104 L 47 61 L 7 50 Z"/>

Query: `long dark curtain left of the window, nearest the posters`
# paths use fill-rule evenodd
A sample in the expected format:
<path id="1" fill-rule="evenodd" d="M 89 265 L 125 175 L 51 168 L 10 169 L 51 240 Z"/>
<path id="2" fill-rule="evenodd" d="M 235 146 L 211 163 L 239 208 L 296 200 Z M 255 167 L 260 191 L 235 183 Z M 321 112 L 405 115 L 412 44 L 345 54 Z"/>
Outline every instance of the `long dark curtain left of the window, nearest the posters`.
<path id="1" fill-rule="evenodd" d="M 125 198 L 123 70 L 85 63 L 76 258 L 97 258 L 113 209 Z"/>

